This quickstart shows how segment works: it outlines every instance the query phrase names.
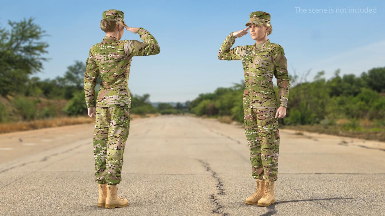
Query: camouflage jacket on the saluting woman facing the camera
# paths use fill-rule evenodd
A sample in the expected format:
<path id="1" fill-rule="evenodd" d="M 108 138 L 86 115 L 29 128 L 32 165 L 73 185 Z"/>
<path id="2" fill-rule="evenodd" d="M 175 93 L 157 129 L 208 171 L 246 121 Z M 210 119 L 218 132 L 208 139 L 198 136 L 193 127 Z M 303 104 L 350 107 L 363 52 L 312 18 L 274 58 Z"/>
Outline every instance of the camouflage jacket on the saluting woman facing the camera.
<path id="1" fill-rule="evenodd" d="M 254 45 L 236 46 L 233 32 L 219 49 L 221 60 L 242 60 L 245 89 L 243 105 L 246 108 L 277 108 L 273 89 L 273 74 L 277 79 L 280 106 L 287 107 L 289 97 L 289 75 L 285 53 L 281 45 L 268 39 L 261 48 Z"/>

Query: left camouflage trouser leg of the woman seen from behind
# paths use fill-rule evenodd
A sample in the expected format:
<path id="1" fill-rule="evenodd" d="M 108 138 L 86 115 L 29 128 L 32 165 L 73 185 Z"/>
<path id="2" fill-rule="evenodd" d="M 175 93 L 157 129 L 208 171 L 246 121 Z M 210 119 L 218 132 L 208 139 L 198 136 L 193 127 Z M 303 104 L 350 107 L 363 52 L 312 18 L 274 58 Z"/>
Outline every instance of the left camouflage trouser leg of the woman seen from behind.
<path id="1" fill-rule="evenodd" d="M 108 128 L 110 112 L 108 107 L 96 107 L 94 130 L 95 181 L 105 183 L 106 148 L 108 143 Z"/>

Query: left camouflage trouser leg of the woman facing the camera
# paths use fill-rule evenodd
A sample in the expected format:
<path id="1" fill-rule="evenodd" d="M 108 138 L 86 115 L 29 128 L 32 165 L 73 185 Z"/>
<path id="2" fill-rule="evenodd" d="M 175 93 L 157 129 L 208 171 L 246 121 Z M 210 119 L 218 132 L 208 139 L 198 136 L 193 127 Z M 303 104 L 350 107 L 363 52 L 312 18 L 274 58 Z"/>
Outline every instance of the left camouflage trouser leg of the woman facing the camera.
<path id="1" fill-rule="evenodd" d="M 259 142 L 257 118 L 252 108 L 243 109 L 244 132 L 249 144 L 251 175 L 255 179 L 263 179 L 263 166 L 261 160 L 261 143 Z"/>

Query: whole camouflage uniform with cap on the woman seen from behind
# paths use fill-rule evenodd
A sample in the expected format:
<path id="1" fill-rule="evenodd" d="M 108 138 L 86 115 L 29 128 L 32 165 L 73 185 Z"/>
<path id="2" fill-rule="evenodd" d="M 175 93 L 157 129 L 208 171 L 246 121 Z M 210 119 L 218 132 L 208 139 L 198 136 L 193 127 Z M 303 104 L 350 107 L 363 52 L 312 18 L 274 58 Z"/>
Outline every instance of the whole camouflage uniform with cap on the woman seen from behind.
<path id="1" fill-rule="evenodd" d="M 123 12 L 107 10 L 104 19 L 124 22 Z M 85 102 L 94 106 L 95 84 L 100 74 L 102 82 L 96 99 L 94 157 L 95 181 L 99 184 L 119 184 L 123 165 L 123 152 L 129 134 L 131 96 L 128 88 L 131 59 L 160 52 L 155 38 L 144 28 L 137 40 L 117 40 L 105 36 L 103 41 L 90 48 L 84 76 Z"/>

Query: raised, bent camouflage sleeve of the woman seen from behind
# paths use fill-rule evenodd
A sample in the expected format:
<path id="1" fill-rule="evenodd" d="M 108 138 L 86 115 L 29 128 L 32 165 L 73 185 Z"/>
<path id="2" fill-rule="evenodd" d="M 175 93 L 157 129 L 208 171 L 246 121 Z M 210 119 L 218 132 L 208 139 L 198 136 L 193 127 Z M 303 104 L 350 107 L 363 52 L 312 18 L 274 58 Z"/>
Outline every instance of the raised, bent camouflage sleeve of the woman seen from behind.
<path id="1" fill-rule="evenodd" d="M 129 57 L 149 56 L 161 52 L 158 42 L 149 31 L 139 27 L 138 34 L 144 43 L 137 40 L 126 40 L 124 43 L 124 51 L 128 53 Z"/>

